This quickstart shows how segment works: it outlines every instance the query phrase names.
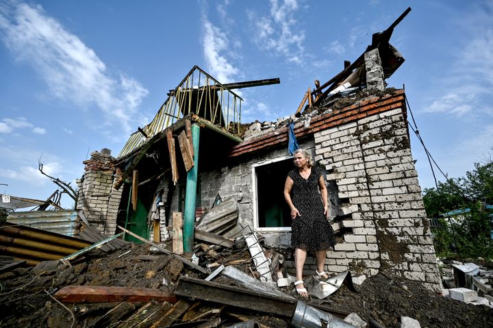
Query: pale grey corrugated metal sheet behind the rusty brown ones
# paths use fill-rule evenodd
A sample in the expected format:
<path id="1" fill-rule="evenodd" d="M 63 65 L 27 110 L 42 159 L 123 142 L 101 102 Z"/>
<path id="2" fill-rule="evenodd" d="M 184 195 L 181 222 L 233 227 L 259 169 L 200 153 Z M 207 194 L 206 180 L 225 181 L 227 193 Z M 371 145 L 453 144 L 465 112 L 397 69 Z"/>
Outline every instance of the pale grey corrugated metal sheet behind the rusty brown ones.
<path id="1" fill-rule="evenodd" d="M 77 212 L 72 210 L 13 212 L 7 217 L 7 222 L 71 237 L 79 232 L 80 227 Z"/>

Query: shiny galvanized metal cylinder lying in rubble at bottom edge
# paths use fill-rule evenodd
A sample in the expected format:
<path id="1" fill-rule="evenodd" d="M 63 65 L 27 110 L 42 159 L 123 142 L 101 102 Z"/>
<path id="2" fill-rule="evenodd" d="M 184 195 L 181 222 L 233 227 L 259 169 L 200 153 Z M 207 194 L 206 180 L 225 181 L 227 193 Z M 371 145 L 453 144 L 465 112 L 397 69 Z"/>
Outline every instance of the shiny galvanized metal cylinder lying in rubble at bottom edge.
<path id="1" fill-rule="evenodd" d="M 306 305 L 302 301 L 296 304 L 291 325 L 296 328 L 355 328 L 340 318 Z"/>

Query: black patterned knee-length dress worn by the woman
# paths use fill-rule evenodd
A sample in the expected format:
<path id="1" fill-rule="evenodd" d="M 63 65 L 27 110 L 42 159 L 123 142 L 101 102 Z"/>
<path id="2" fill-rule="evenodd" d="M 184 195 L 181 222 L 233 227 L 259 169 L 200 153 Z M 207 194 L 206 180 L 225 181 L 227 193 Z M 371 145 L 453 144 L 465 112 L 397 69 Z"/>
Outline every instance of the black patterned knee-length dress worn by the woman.
<path id="1" fill-rule="evenodd" d="M 318 179 L 322 172 L 315 166 L 308 179 L 301 177 L 298 168 L 288 173 L 294 184 L 291 201 L 301 214 L 291 223 L 291 246 L 305 251 L 328 251 L 336 243 L 333 229 L 324 214 Z"/>

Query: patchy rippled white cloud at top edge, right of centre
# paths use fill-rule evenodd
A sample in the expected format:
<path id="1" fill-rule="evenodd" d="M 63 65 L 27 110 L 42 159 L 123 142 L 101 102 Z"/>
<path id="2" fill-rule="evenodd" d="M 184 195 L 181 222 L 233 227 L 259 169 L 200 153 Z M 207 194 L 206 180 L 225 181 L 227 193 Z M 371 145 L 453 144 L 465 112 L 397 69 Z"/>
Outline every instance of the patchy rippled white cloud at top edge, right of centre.
<path id="1" fill-rule="evenodd" d="M 283 55 L 289 62 L 301 64 L 305 31 L 294 19 L 298 9 L 296 0 L 283 0 L 282 3 L 270 0 L 270 15 L 259 16 L 249 12 L 248 17 L 255 26 L 254 41 L 259 47 Z"/>

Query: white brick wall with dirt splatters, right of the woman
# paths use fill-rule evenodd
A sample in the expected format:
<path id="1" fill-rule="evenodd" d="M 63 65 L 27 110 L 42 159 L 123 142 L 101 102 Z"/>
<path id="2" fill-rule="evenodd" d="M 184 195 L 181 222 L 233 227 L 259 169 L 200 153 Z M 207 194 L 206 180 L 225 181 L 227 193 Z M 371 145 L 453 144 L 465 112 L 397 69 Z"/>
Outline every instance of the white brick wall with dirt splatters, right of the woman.
<path id="1" fill-rule="evenodd" d="M 327 252 L 327 270 L 387 270 L 440 290 L 435 250 L 402 108 L 314 134 L 316 160 L 335 181 L 344 242 Z"/>

